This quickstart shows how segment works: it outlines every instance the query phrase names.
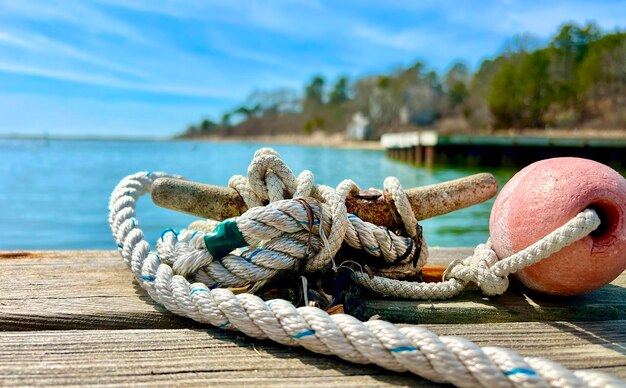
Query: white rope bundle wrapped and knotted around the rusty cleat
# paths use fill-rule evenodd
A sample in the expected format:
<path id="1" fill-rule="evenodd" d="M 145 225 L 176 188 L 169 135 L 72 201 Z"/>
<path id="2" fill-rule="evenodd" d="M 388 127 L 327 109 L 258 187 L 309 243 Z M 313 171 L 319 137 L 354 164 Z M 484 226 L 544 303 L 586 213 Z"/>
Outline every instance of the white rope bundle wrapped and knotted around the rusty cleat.
<path id="1" fill-rule="evenodd" d="M 263 185 L 259 176 L 278 180 L 272 178 L 272 185 Z M 371 267 L 374 274 L 396 279 L 416 277 L 426 261 L 428 248 L 423 237 L 416 235 L 417 222 L 402 187 L 397 180 L 392 183 L 392 194 L 398 191 L 394 194 L 398 203 L 404 200 L 410 212 L 403 217 L 409 220 L 405 222 L 407 230 L 413 231 L 408 237 L 346 213 L 346 197 L 359 190 L 354 182 L 343 181 L 337 189 L 316 186 L 309 171 L 295 178 L 275 151 L 262 149 L 255 154 L 247 179 L 236 176 L 230 180 L 231 187 L 250 207 L 236 222 L 247 245 L 254 249 L 214 260 L 206 249 L 204 237 L 217 223 L 208 220 L 190 225 L 189 230 L 196 233 L 189 230 L 178 233 L 172 229 L 164 232 L 156 252 L 162 261 L 173 266 L 174 273 L 194 276 L 195 280 L 214 287 L 241 287 L 265 281 L 288 268 L 303 267 L 307 272 L 329 265 L 335 268 L 333 259 L 344 242 L 366 255 L 383 259 L 380 265 Z M 302 200 L 282 201 L 284 194 Z M 276 202 L 266 207 L 255 206 L 270 197 Z"/>

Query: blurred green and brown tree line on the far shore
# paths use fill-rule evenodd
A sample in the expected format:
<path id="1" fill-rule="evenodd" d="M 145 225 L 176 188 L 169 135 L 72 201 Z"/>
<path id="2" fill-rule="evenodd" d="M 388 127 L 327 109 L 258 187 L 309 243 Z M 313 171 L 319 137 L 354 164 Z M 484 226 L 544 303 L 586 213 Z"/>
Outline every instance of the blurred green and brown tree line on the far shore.
<path id="1" fill-rule="evenodd" d="M 390 74 L 339 77 L 330 85 L 317 75 L 302 92 L 253 91 L 219 120 L 191 125 L 185 135 L 344 132 L 357 112 L 369 121 L 369 138 L 416 127 L 469 133 L 624 128 L 626 33 L 565 24 L 545 45 L 514 38 L 475 72 L 460 61 L 445 74 L 416 62 Z"/>

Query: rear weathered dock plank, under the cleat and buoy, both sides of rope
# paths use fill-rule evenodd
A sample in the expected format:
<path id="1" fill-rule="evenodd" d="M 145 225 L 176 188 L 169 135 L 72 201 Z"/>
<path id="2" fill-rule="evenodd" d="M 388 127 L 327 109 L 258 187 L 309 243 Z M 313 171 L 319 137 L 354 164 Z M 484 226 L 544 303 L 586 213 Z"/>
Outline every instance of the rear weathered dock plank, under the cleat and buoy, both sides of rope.
<path id="1" fill-rule="evenodd" d="M 471 253 L 432 249 L 432 263 Z M 0 329 L 193 328 L 133 283 L 115 251 L 0 252 Z M 396 322 L 476 323 L 626 319 L 626 274 L 588 295 L 554 298 L 512 289 L 486 298 L 467 290 L 450 301 L 368 302 L 367 312 Z"/>

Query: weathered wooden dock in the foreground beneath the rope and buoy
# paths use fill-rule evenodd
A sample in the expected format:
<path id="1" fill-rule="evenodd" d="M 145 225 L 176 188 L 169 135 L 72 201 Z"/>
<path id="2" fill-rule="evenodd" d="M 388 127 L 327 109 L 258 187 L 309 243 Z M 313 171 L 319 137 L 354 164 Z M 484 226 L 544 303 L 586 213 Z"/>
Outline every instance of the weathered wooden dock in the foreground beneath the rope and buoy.
<path id="1" fill-rule="evenodd" d="M 431 250 L 445 266 L 471 249 Z M 0 252 L 0 385 L 432 386 L 170 314 L 116 251 Z M 443 302 L 368 303 L 369 314 L 626 379 L 626 273 L 588 295 L 513 287 Z"/>

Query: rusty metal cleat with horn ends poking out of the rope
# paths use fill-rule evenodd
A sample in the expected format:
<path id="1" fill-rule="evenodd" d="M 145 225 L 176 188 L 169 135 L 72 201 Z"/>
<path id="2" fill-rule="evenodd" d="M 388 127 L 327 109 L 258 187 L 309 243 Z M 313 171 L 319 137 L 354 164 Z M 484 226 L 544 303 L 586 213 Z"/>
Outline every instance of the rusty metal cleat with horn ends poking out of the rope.
<path id="1" fill-rule="evenodd" d="M 484 202 L 496 195 L 498 182 L 489 173 L 406 190 L 418 220 L 447 214 Z M 173 179 L 157 179 L 152 201 L 158 206 L 218 221 L 243 214 L 248 207 L 229 187 Z M 396 230 L 402 225 L 391 195 L 361 190 L 346 199 L 348 212 L 364 221 Z"/>

